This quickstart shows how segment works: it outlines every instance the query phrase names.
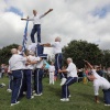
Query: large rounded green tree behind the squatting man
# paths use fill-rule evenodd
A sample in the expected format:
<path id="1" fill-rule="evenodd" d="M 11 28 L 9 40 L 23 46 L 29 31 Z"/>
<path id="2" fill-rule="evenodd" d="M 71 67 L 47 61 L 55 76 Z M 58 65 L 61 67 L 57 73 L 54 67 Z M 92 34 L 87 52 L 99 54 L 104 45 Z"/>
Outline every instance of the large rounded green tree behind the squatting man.
<path id="1" fill-rule="evenodd" d="M 82 59 L 89 61 L 91 64 L 99 65 L 102 61 L 102 52 L 98 45 L 86 41 L 72 41 L 68 46 L 63 48 L 64 61 L 72 57 L 77 67 L 84 67 Z M 65 62 L 64 62 L 65 63 Z"/>

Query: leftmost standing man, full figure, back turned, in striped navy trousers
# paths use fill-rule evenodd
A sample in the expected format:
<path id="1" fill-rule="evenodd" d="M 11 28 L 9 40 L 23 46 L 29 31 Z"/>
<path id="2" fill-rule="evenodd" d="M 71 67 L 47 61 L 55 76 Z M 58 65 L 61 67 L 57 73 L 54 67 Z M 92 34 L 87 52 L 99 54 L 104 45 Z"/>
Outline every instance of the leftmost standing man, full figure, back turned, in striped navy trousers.
<path id="1" fill-rule="evenodd" d="M 19 96 L 22 87 L 22 79 L 23 79 L 23 68 L 24 62 L 28 61 L 26 57 L 23 57 L 18 54 L 16 48 L 11 50 L 12 56 L 9 59 L 10 70 L 12 72 L 13 76 L 13 88 L 12 88 L 12 96 L 11 96 L 11 106 L 19 103 Z"/>

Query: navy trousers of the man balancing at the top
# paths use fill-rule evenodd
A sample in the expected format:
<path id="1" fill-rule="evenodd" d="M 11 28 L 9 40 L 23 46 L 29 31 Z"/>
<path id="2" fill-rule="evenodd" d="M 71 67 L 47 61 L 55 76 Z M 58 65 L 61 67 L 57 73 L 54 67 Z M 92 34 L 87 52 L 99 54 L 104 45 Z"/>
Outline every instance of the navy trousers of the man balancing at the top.
<path id="1" fill-rule="evenodd" d="M 31 32 L 31 41 L 35 43 L 34 34 L 37 32 L 37 43 L 41 43 L 41 24 L 35 24 Z"/>

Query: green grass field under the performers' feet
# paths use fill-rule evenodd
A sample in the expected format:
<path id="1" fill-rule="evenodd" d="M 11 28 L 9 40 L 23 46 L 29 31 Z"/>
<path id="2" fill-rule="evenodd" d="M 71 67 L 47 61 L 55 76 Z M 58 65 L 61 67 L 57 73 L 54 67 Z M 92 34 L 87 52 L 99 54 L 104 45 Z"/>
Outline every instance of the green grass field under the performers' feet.
<path id="1" fill-rule="evenodd" d="M 0 84 L 8 85 L 8 78 L 0 79 Z M 0 110 L 110 110 L 103 106 L 102 92 L 100 91 L 100 103 L 94 101 L 92 84 L 76 82 L 69 87 L 70 101 L 61 102 L 59 80 L 53 86 L 48 85 L 48 78 L 43 79 L 44 92 L 41 97 L 28 100 L 25 97 L 20 103 L 10 107 L 11 94 L 7 92 L 7 87 L 0 88 Z"/>

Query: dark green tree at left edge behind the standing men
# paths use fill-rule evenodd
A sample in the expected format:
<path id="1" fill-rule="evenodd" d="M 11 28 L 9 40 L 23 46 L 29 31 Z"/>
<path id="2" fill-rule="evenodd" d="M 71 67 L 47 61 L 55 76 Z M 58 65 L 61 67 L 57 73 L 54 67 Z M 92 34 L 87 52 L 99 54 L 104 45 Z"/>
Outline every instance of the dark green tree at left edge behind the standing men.
<path id="1" fill-rule="evenodd" d="M 0 64 L 8 64 L 8 61 L 11 57 L 11 48 L 16 48 L 18 46 L 18 44 L 11 44 L 0 50 Z"/>

